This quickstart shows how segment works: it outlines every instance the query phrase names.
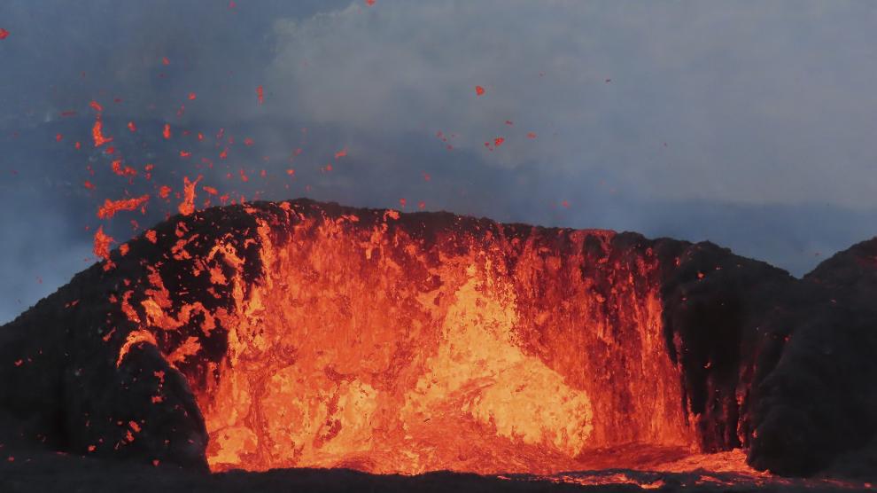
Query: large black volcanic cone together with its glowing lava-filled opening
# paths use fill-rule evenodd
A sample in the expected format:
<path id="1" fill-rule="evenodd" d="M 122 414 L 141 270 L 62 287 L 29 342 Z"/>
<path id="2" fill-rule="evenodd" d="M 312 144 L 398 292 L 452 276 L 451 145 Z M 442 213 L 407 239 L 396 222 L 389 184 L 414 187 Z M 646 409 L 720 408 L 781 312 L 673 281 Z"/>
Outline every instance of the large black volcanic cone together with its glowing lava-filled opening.
<path id="1" fill-rule="evenodd" d="M 212 470 L 638 466 L 751 445 L 782 352 L 752 320 L 795 282 L 633 233 L 217 207 L 4 327 L 0 397 L 58 447 Z"/>

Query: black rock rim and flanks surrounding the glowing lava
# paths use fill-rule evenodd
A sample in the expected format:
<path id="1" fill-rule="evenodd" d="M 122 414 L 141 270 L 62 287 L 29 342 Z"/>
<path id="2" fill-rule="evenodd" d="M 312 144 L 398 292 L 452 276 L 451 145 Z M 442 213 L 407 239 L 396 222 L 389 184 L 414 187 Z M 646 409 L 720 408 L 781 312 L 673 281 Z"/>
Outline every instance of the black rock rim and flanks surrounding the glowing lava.
<path id="1" fill-rule="evenodd" d="M 258 278 L 252 211 L 271 217 L 290 210 L 331 217 L 385 212 L 293 200 L 175 216 L 151 230 L 156 241 L 128 242 L 129 250 L 113 251 L 112 268 L 101 262 L 84 270 L 0 327 L 0 410 L 16 420 L 19 437 L 54 450 L 206 468 L 208 436 L 190 383 L 148 344 L 120 364 L 120 348 L 136 330 L 120 312 L 131 283 L 147 275 L 144 266 L 179 254 L 181 230 L 199 235 L 188 246 L 196 257 L 215 240 L 231 242 L 244 253 L 245 275 Z M 447 213 L 403 214 L 393 227 L 423 237 L 449 228 L 540 238 L 570 232 Z M 702 450 L 742 447 L 752 466 L 773 473 L 875 475 L 877 239 L 834 255 L 803 279 L 709 242 L 622 233 L 612 237 L 610 251 L 625 262 L 648 252 L 659 264 L 667 357 L 681 370 L 679 406 L 695 419 Z M 207 296 L 208 286 L 187 277 L 188 260 L 180 262 L 176 284 L 167 283 L 175 296 L 206 309 L 230 302 L 230 292 Z M 590 269 L 583 265 L 581 275 L 608 282 Z M 221 357 L 225 334 L 211 333 L 202 350 Z"/>

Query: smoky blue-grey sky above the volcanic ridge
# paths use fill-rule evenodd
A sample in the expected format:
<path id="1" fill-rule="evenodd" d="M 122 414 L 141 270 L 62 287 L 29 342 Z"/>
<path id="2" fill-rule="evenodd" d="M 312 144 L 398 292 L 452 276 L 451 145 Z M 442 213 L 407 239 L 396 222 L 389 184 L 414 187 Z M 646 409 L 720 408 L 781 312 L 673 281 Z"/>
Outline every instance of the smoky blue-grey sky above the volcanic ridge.
<path id="1" fill-rule="evenodd" d="M 5 0 L 0 28 L 0 321 L 93 262 L 97 226 L 124 241 L 198 174 L 248 199 L 710 239 L 796 275 L 877 234 L 872 2 Z M 97 219 L 143 193 L 148 215 Z"/>

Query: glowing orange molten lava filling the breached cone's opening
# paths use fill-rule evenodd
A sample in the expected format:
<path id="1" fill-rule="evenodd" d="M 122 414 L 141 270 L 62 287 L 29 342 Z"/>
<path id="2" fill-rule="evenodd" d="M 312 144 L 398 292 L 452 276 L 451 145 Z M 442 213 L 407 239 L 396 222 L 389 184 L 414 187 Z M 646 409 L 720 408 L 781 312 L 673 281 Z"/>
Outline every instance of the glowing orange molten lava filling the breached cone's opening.
<path id="1" fill-rule="evenodd" d="M 452 215 L 244 210 L 244 238 L 179 223 L 144 295 L 121 301 L 138 329 L 117 364 L 156 345 L 186 376 L 213 470 L 554 473 L 697 442 L 650 248 Z"/>

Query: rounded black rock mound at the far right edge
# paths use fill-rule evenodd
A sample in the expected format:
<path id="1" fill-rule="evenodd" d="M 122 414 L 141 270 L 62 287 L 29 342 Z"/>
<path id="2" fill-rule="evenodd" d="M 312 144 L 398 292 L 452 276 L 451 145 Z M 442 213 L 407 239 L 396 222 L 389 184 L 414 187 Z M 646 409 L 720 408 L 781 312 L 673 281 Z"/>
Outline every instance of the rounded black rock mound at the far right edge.
<path id="1" fill-rule="evenodd" d="M 844 452 L 853 460 L 877 433 L 877 239 L 834 255 L 778 296 L 764 326 L 785 344 L 761 362 L 749 460 L 813 473 Z"/>

